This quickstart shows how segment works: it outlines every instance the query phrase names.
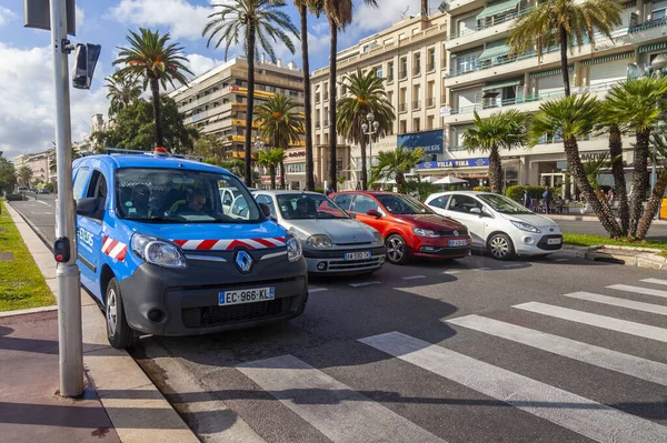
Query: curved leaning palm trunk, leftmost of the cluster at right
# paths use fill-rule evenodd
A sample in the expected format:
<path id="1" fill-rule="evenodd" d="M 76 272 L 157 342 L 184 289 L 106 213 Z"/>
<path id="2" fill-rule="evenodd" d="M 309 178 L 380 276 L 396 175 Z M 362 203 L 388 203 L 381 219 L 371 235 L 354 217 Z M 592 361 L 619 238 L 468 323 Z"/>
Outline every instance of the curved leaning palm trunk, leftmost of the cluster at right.
<path id="1" fill-rule="evenodd" d="M 590 203 L 603 228 L 605 228 L 605 230 L 609 233 L 609 236 L 613 239 L 619 238 L 621 235 L 620 226 L 611 213 L 609 203 L 607 203 L 607 200 L 600 200 L 588 182 L 586 171 L 584 170 L 584 164 L 581 163 L 581 158 L 579 157 L 577 139 L 567 138 L 564 141 L 564 145 L 568 168 L 573 174 L 573 178 L 575 179 L 575 182 L 584 193 L 586 201 Z"/>

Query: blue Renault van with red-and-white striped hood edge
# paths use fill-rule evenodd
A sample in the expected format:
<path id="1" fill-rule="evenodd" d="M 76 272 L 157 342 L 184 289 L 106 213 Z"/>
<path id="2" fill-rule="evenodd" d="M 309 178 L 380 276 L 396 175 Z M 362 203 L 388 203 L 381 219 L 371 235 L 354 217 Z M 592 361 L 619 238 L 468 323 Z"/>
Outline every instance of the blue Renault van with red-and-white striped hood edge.
<path id="1" fill-rule="evenodd" d="M 308 299 L 301 244 L 225 169 L 109 150 L 73 163 L 77 264 L 115 348 L 295 318 Z M 233 190 L 225 205 L 220 189 Z"/>

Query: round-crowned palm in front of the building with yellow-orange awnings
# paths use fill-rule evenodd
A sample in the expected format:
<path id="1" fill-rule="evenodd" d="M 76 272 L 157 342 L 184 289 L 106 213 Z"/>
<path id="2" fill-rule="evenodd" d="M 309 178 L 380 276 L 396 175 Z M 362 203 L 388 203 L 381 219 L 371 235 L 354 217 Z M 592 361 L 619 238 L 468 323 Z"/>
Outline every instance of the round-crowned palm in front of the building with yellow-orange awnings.
<path id="1" fill-rule="evenodd" d="M 287 95 L 276 94 L 257 107 L 255 121 L 260 122 L 259 135 L 269 139 L 273 148 L 287 149 L 303 134 L 303 117 L 297 111 L 299 103 Z M 285 163 L 280 162 L 281 188 L 285 187 Z"/>

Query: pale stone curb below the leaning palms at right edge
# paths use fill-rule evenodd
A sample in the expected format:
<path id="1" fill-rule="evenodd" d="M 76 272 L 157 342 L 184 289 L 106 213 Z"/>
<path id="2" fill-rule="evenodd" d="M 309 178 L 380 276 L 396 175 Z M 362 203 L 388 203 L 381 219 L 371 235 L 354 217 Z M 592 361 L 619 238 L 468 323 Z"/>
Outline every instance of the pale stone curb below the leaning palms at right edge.
<path id="1" fill-rule="evenodd" d="M 667 271 L 667 258 L 658 255 L 655 249 L 616 245 L 564 245 L 560 252 L 573 258 L 589 261 L 604 261 L 626 266 Z"/>

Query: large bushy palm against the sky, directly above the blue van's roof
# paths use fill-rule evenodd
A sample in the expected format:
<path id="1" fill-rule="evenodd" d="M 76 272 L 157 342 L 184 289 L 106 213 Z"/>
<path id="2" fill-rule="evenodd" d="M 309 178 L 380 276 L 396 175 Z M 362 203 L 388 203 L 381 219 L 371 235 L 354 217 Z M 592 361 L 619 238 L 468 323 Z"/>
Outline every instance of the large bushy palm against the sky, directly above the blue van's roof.
<path id="1" fill-rule="evenodd" d="M 150 84 L 152 94 L 153 115 L 156 119 L 156 143 L 158 147 L 165 144 L 162 128 L 162 111 L 160 104 L 160 84 L 162 89 L 167 88 L 167 82 L 176 88 L 173 81 L 187 84 L 186 73 L 195 75 L 183 62 L 187 61 L 182 56 L 183 47 L 178 43 L 169 43 L 170 34 L 167 32 L 160 36 L 160 31 L 152 32 L 150 29 L 139 28 L 140 36 L 130 31 L 126 38 L 130 43 L 129 48 L 118 48 L 118 59 L 113 66 L 122 64 L 117 72 L 118 75 L 129 79 L 142 79 L 143 90 Z"/>

